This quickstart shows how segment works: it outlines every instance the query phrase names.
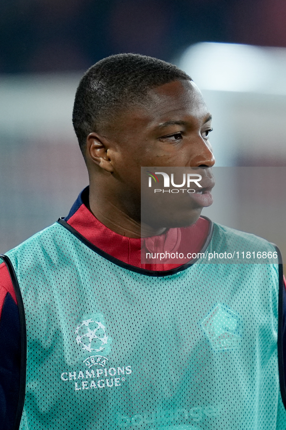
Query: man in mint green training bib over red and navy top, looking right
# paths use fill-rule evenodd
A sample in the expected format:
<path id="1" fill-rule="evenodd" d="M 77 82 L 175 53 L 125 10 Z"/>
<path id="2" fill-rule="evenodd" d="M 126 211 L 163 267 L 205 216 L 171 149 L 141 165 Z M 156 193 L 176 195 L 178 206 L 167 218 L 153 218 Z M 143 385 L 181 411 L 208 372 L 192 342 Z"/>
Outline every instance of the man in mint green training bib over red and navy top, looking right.
<path id="1" fill-rule="evenodd" d="M 276 252 L 200 217 L 214 158 L 196 85 L 171 64 L 115 55 L 82 78 L 73 123 L 90 187 L 2 256 L 3 428 L 285 429 L 278 265 L 141 263 L 141 236 L 192 255 Z M 141 166 L 200 169 L 207 186 L 142 226 Z"/>

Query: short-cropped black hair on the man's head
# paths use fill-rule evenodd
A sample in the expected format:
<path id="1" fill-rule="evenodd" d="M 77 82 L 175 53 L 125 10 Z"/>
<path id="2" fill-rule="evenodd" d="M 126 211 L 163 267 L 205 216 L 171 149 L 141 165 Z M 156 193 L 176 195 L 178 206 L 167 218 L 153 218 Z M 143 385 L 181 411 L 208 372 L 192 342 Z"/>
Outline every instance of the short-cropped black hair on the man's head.
<path id="1" fill-rule="evenodd" d="M 173 80 L 191 80 L 174 64 L 140 54 L 117 54 L 88 69 L 75 94 L 73 125 L 81 151 L 87 136 L 112 115 L 146 102 L 149 89 Z"/>

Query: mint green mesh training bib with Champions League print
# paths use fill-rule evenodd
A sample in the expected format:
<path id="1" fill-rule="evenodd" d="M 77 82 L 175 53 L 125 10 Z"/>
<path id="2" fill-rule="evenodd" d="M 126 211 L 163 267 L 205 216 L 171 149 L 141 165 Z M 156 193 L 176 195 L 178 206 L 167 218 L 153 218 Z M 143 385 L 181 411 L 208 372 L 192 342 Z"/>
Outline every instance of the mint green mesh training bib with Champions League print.
<path id="1" fill-rule="evenodd" d="M 241 241 L 275 250 L 218 224 L 208 249 Z M 148 272 L 88 245 L 55 223 L 7 253 L 27 330 L 21 430 L 286 429 L 278 265 Z"/>

